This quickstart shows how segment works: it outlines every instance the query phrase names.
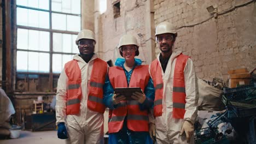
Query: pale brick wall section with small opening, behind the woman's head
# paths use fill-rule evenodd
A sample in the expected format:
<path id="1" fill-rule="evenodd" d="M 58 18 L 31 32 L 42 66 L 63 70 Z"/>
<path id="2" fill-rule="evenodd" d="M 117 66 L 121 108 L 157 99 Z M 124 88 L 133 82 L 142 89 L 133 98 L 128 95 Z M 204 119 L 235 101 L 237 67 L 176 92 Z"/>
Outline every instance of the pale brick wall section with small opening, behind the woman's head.
<path id="1" fill-rule="evenodd" d="M 120 2 L 120 13 L 114 5 Z M 115 15 L 115 17 L 114 17 Z M 111 0 L 107 1 L 107 11 L 101 15 L 101 35 L 100 43 L 102 46 L 98 54 L 105 61 L 121 57 L 118 51 L 119 39 L 124 34 L 132 34 L 138 40 L 139 56 L 144 63 L 147 62 L 147 53 L 145 36 L 145 2 L 142 0 Z"/>

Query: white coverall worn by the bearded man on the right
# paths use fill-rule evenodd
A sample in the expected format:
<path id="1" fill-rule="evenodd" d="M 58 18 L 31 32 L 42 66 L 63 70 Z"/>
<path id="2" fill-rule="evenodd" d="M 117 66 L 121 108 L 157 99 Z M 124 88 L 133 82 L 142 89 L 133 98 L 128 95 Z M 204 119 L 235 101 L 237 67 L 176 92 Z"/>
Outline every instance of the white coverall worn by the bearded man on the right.
<path id="1" fill-rule="evenodd" d="M 150 117 L 150 122 L 155 123 L 156 129 L 156 142 L 160 143 L 187 143 L 185 132 L 182 136 L 179 136 L 182 129 L 182 125 L 185 119 L 194 123 L 197 116 L 197 101 L 198 101 L 198 89 L 196 83 L 195 70 L 193 62 L 189 58 L 184 68 L 184 80 L 185 80 L 185 93 L 186 104 L 184 119 L 172 118 L 172 88 L 173 88 L 173 74 L 176 63 L 176 57 L 181 52 L 173 52 L 165 73 L 162 70 L 162 80 L 164 82 L 163 98 L 162 98 L 162 116 Z M 159 60 L 160 53 L 158 55 Z M 150 73 L 149 65 L 149 73 Z M 161 64 L 160 64 L 161 66 Z M 155 120 L 155 122 L 154 122 Z M 194 143 L 194 136 L 191 136 L 190 143 Z"/>

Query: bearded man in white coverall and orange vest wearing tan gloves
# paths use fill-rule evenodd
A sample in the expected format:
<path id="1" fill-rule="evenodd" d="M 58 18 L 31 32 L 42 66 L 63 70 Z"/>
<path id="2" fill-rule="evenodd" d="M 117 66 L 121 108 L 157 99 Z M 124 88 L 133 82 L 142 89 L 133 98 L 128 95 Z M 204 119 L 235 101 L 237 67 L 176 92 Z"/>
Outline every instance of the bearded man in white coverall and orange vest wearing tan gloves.
<path id="1" fill-rule="evenodd" d="M 161 53 L 149 65 L 155 87 L 150 136 L 155 136 L 158 144 L 194 143 L 198 90 L 193 62 L 173 51 L 177 32 L 172 23 L 159 23 L 155 37 Z"/>

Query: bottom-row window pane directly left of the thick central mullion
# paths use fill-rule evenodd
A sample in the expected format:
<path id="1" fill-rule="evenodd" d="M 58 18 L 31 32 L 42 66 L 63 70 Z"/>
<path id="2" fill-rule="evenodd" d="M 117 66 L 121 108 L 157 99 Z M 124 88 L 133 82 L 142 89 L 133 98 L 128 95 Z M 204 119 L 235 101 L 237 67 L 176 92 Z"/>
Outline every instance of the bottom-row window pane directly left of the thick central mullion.
<path id="1" fill-rule="evenodd" d="M 39 53 L 39 72 L 49 73 L 50 55 L 49 53 Z"/>

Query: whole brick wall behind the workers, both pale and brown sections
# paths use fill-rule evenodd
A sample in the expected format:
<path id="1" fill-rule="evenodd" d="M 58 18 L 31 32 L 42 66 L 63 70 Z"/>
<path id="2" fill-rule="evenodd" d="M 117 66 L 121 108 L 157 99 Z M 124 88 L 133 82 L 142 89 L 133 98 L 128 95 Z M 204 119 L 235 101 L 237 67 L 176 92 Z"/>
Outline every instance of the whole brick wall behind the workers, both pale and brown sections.
<path id="1" fill-rule="evenodd" d="M 149 0 L 148 0 L 149 1 Z M 133 34 L 138 40 L 140 55 L 147 62 L 145 46 L 145 3 L 139 0 L 121 0 L 120 17 L 114 19 L 113 4 L 107 1 L 107 11 L 101 15 L 100 43 L 98 54 L 105 61 L 120 57 L 117 45 L 121 35 Z M 154 0 L 154 23 L 172 22 L 178 30 L 174 50 L 189 55 L 198 77 L 212 80 L 213 77 L 227 79 L 227 71 L 256 65 L 256 7 L 247 0 L 225 1 L 174 1 Z M 244 4 L 244 5 L 242 5 Z M 207 7 L 217 8 L 216 17 L 208 13 Z M 143 36 L 139 37 L 138 33 Z M 154 47 L 154 46 L 153 46 Z M 155 47 L 155 57 L 160 50 Z"/>

